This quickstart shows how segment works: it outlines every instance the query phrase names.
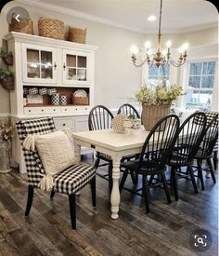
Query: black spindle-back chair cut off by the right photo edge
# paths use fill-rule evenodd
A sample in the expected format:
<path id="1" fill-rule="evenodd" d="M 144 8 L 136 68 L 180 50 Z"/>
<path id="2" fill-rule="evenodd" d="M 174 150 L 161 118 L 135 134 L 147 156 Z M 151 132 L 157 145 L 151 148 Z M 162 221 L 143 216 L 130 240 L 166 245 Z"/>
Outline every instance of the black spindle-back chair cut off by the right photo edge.
<path id="1" fill-rule="evenodd" d="M 213 182 L 216 183 L 216 178 L 213 170 L 213 149 L 218 141 L 218 114 L 214 115 L 212 121 L 207 125 L 205 135 L 200 142 L 200 146 L 195 159 L 197 160 L 198 177 L 200 178 L 201 189 L 204 190 L 204 180 L 202 174 L 202 161 L 206 160 L 207 166 L 205 170 L 210 170 Z"/>

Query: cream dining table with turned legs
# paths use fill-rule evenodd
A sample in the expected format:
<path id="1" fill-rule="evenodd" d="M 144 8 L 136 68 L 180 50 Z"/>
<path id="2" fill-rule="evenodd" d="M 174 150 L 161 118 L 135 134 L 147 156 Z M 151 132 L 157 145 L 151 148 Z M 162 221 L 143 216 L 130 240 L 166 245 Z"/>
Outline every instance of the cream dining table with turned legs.
<path id="1" fill-rule="evenodd" d="M 111 218 L 119 218 L 120 208 L 120 165 L 122 156 L 141 152 L 149 134 L 143 126 L 126 128 L 124 133 L 117 133 L 112 128 L 73 132 L 75 161 L 81 161 L 81 147 L 94 149 L 107 154 L 112 159 L 112 190 L 110 195 Z"/>

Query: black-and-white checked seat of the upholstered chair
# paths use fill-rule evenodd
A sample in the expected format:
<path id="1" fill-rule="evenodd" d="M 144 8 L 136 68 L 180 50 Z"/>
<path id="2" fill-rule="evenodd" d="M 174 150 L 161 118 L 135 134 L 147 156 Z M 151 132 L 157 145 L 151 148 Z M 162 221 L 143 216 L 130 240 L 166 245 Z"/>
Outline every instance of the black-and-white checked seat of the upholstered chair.
<path id="1" fill-rule="evenodd" d="M 54 176 L 54 190 L 71 195 L 81 190 L 96 175 L 96 169 L 88 164 L 77 164 Z"/>

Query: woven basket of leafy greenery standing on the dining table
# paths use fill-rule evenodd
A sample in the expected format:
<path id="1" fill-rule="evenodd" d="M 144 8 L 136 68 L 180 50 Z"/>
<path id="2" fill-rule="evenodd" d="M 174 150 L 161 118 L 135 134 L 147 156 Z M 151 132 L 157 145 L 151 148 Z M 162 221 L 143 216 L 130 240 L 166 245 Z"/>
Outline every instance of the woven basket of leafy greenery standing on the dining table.
<path id="1" fill-rule="evenodd" d="M 135 91 L 135 100 L 142 104 L 144 127 L 150 130 L 162 117 L 169 115 L 171 105 L 183 94 L 182 87 L 167 87 L 163 80 L 153 86 L 147 86 L 144 82 L 140 90 Z"/>

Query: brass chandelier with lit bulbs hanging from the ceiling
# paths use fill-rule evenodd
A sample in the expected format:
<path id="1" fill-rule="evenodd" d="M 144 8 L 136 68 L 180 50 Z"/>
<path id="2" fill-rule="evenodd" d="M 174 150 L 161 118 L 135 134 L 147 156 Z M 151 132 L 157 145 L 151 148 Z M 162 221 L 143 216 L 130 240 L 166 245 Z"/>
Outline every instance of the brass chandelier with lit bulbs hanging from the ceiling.
<path id="1" fill-rule="evenodd" d="M 136 46 L 131 47 L 131 53 L 132 53 L 132 61 L 135 67 L 142 67 L 146 62 L 148 62 L 148 65 L 151 66 L 153 64 L 156 64 L 157 67 L 160 67 L 164 64 L 172 64 L 174 67 L 179 67 L 183 65 L 187 59 L 187 47 L 188 44 L 185 43 L 182 47 L 179 48 L 179 58 L 178 61 L 174 61 L 171 58 L 171 41 L 166 42 L 166 50 L 163 50 L 161 52 L 161 11 L 162 11 L 162 0 L 161 0 L 161 7 L 160 7 L 160 18 L 159 18 L 159 30 L 158 30 L 158 42 L 157 42 L 157 52 L 152 53 L 149 49 L 150 43 L 146 42 L 145 47 L 146 50 L 138 49 Z M 137 56 L 140 57 L 140 60 L 137 60 Z M 138 63 L 136 63 L 138 62 Z"/>

